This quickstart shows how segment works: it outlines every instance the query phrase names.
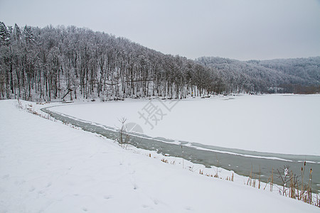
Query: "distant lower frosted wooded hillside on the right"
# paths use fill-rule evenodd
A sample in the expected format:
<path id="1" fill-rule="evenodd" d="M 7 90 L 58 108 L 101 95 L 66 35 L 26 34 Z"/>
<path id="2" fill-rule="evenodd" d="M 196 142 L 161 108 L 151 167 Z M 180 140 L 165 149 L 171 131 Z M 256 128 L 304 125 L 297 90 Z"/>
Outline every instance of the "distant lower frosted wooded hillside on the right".
<path id="1" fill-rule="evenodd" d="M 216 70 L 228 92 L 319 92 L 320 57 L 247 62 L 202 57 L 196 62 Z"/>

